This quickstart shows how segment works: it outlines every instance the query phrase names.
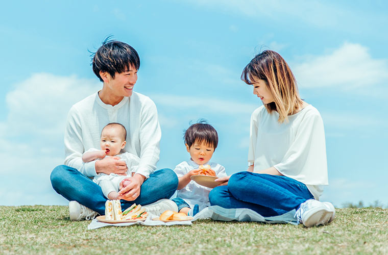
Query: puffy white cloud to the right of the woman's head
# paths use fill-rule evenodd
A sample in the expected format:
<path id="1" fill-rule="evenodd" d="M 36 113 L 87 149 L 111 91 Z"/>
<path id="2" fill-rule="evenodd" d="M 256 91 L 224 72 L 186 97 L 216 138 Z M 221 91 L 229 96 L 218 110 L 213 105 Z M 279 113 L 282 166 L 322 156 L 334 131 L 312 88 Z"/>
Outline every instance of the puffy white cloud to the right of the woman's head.
<path id="1" fill-rule="evenodd" d="M 308 57 L 293 69 L 302 88 L 369 87 L 388 78 L 388 60 L 373 59 L 367 47 L 355 43 L 344 43 L 327 55 Z"/>

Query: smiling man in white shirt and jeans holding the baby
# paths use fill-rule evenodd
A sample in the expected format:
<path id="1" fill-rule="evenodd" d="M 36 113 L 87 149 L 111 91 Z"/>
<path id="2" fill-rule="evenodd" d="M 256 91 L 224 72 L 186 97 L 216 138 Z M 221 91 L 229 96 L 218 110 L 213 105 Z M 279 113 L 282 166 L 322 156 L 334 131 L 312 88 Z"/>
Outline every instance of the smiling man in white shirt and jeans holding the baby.
<path id="1" fill-rule="evenodd" d="M 130 184 L 119 192 L 123 210 L 137 203 L 149 205 L 145 208 L 153 214 L 177 211 L 175 203 L 166 199 L 178 187 L 176 174 L 171 169 L 154 171 L 161 138 L 156 106 L 149 97 L 133 92 L 140 67 L 136 50 L 108 37 L 94 54 L 92 66 L 103 88 L 71 107 L 64 137 L 65 165 L 51 173 L 54 190 L 70 200 L 70 219 L 105 214 L 106 198 L 90 178 L 98 173 L 124 175 L 127 171 L 125 161 L 117 157 L 82 162 L 84 151 L 100 147 L 101 131 L 110 122 L 126 127 L 128 141 L 124 151 L 140 158 L 134 175 L 127 178 Z"/>

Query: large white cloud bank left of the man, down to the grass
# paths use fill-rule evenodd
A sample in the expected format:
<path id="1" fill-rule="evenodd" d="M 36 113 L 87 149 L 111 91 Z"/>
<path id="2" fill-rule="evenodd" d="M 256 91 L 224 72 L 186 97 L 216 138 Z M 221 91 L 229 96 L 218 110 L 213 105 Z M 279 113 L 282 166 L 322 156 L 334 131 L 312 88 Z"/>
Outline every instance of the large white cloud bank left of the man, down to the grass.
<path id="1" fill-rule="evenodd" d="M 2 205 L 34 205 L 45 198 L 63 201 L 51 188 L 50 173 L 63 163 L 67 112 L 99 88 L 95 80 L 48 73 L 33 74 L 13 86 L 6 95 L 7 117 L 0 122 L 0 142 L 6 144 L 0 152 L 0 173 L 6 176 L 0 190 Z"/>

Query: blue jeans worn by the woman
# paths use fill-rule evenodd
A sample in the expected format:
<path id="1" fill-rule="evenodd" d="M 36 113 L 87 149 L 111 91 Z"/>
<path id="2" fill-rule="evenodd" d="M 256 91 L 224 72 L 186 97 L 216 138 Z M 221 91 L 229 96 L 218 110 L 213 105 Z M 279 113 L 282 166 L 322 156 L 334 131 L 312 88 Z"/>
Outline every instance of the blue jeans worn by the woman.
<path id="1" fill-rule="evenodd" d="M 306 185 L 286 176 L 238 172 L 226 186 L 210 191 L 210 205 L 248 208 L 261 216 L 277 216 L 298 209 L 313 195 Z"/>

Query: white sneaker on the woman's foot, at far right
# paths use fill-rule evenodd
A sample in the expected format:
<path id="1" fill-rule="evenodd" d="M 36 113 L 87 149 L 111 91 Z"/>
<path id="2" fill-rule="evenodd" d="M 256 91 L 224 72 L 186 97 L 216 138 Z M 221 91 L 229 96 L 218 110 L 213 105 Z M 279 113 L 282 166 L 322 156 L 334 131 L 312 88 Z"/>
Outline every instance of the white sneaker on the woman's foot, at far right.
<path id="1" fill-rule="evenodd" d="M 304 226 L 318 226 L 329 223 L 334 219 L 334 207 L 331 203 L 308 199 L 301 203 L 296 216 Z"/>

